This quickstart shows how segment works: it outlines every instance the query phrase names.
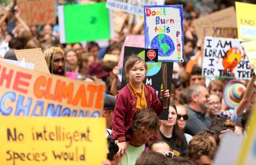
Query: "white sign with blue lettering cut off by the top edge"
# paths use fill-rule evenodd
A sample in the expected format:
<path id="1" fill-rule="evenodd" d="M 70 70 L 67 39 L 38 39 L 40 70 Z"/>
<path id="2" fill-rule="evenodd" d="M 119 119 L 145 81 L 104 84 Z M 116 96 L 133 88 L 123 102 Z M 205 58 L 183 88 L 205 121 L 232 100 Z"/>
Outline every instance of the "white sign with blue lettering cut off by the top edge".
<path id="1" fill-rule="evenodd" d="M 145 5 L 164 5 L 165 0 L 107 0 L 107 8 L 143 15 Z"/>

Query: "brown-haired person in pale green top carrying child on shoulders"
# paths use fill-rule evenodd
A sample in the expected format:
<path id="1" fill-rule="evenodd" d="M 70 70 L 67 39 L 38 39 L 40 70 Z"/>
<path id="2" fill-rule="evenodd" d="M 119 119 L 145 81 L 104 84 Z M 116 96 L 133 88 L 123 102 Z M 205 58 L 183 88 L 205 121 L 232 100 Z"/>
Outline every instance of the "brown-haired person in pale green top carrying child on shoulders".
<path id="1" fill-rule="evenodd" d="M 152 109 L 138 110 L 134 115 L 131 128 L 131 139 L 127 144 L 127 151 L 122 156 L 120 165 L 135 164 L 136 159 L 144 151 L 145 143 L 156 135 L 159 123 L 155 111 Z"/>

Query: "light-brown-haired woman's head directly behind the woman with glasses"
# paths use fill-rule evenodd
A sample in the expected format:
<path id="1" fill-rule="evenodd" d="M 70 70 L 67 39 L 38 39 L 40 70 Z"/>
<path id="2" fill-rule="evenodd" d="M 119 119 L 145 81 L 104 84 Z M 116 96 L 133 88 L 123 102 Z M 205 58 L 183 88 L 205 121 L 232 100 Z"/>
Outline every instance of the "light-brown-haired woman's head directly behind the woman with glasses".
<path id="1" fill-rule="evenodd" d="M 219 99 L 222 99 L 222 92 L 224 89 L 224 84 L 219 79 L 215 79 L 209 83 L 208 92 L 210 95 L 215 94 L 219 96 Z"/>

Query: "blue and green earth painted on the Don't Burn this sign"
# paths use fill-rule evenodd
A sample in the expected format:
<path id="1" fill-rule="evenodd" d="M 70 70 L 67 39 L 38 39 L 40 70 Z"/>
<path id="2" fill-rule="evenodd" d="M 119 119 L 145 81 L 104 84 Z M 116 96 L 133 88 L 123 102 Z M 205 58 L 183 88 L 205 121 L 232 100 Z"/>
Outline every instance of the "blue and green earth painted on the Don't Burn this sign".
<path id="1" fill-rule="evenodd" d="M 161 57 L 170 56 L 175 50 L 171 37 L 165 34 L 156 35 L 151 41 L 151 48 L 158 48 L 158 55 Z"/>

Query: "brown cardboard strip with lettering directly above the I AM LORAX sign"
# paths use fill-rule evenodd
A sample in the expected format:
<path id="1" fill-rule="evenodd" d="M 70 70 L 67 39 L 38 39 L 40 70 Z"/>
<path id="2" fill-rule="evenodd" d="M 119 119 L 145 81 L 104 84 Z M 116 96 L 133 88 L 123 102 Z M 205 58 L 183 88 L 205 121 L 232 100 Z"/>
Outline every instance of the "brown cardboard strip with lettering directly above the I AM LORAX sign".
<path id="1" fill-rule="evenodd" d="M 213 26 L 203 26 L 204 28 L 204 37 L 222 37 L 229 39 L 237 39 L 237 28 L 231 27 L 213 27 Z M 204 37 L 202 39 L 204 39 Z"/>

